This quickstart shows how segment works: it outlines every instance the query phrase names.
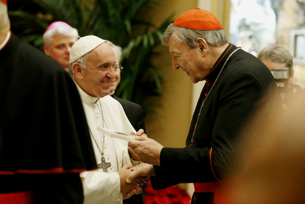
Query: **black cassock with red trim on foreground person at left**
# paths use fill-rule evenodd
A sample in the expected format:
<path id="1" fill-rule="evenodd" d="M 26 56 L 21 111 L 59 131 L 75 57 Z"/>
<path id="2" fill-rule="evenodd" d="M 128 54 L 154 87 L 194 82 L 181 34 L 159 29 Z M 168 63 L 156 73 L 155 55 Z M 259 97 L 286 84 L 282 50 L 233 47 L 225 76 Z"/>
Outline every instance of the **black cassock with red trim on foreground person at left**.
<path id="1" fill-rule="evenodd" d="M 36 203 L 82 203 L 79 173 L 95 168 L 70 75 L 12 34 L 0 50 L 0 196 L 30 190 Z"/>

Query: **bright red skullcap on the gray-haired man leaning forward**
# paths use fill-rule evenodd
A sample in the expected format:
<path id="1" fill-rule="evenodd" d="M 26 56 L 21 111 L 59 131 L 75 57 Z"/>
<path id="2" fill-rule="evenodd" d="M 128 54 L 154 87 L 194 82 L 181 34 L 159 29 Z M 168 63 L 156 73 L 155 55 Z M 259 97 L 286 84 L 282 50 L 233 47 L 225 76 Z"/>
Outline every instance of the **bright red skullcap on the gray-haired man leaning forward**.
<path id="1" fill-rule="evenodd" d="M 173 24 L 178 27 L 195 30 L 224 29 L 212 13 L 203 9 L 189 10 L 181 14 Z"/>

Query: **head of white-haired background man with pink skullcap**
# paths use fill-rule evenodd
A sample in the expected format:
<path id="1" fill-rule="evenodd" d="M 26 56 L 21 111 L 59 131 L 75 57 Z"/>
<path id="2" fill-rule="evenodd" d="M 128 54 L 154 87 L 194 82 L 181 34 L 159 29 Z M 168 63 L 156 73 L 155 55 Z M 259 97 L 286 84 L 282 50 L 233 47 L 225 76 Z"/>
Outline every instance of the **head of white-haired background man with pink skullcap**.
<path id="1" fill-rule="evenodd" d="M 68 71 L 70 50 L 77 38 L 78 32 L 75 28 L 62 21 L 53 22 L 43 34 L 43 51 Z"/>

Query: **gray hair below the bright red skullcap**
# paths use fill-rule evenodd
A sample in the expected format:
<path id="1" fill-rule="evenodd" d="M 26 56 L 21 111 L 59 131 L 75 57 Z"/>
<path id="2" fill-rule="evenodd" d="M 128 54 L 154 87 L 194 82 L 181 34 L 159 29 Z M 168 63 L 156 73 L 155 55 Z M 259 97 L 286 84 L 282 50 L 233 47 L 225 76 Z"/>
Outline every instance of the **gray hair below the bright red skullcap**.
<path id="1" fill-rule="evenodd" d="M 176 41 L 184 42 L 191 49 L 196 48 L 197 38 L 203 38 L 206 42 L 213 46 L 219 47 L 228 43 L 227 35 L 224 30 L 194 30 L 175 26 L 173 23 L 167 27 L 163 34 L 162 44 L 168 46 L 168 39 L 172 36 Z"/>

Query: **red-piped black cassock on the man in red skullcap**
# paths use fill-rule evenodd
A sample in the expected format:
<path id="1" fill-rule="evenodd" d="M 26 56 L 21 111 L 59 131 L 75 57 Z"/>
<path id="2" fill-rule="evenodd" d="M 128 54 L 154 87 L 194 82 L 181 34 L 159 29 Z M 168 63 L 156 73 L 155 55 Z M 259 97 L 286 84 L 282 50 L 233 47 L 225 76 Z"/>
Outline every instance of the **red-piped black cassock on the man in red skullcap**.
<path id="1" fill-rule="evenodd" d="M 206 76 L 186 139 L 188 148 L 162 149 L 160 166 L 154 166 L 156 176 L 151 177 L 155 190 L 178 183 L 206 183 L 233 177 L 242 170 L 252 148 L 259 146 L 252 137 L 254 132 L 240 138 L 251 113 L 264 107 L 264 117 L 258 126 L 262 129 L 281 117 L 282 102 L 271 72 L 259 59 L 241 49 L 228 59 L 235 49 L 235 45 L 229 44 Z M 196 193 L 196 203 L 213 203 L 213 197 L 213 192 Z"/>

